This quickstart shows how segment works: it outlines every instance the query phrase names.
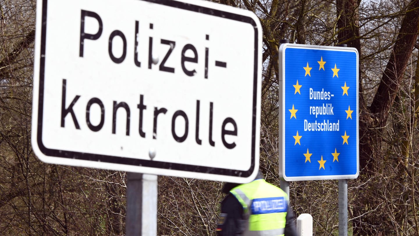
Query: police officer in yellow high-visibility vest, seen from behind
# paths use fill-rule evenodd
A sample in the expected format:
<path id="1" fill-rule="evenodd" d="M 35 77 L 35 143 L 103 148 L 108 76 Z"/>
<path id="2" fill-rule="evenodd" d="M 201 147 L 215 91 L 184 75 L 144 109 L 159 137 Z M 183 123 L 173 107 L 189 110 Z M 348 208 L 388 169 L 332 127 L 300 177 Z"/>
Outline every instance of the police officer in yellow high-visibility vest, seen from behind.
<path id="1" fill-rule="evenodd" d="M 228 195 L 221 202 L 218 236 L 297 236 L 287 194 L 260 170 L 252 182 L 227 183 L 223 191 Z"/>

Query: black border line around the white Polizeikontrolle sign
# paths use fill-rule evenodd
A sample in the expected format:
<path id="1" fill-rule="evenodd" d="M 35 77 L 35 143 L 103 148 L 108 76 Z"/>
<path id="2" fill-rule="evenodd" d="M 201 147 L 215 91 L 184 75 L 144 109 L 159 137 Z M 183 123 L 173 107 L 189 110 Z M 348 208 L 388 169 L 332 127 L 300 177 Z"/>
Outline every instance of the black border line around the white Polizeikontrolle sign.
<path id="1" fill-rule="evenodd" d="M 93 153 L 85 152 L 74 152 L 68 150 L 57 150 L 57 149 L 48 149 L 42 143 L 42 123 L 43 123 L 43 101 L 44 101 L 44 69 L 45 69 L 45 42 L 46 42 L 46 32 L 47 32 L 47 2 L 48 0 L 42 0 L 42 26 L 41 26 L 41 53 L 40 53 L 40 64 L 39 64 L 39 97 L 38 97 L 38 124 L 37 124 L 37 144 L 39 150 L 46 156 L 49 157 L 63 157 L 69 159 L 77 160 L 88 160 L 96 162 L 105 162 L 105 163 L 114 163 L 114 164 L 123 164 L 131 166 L 144 166 L 150 168 L 159 168 L 159 169 L 171 169 L 171 170 L 182 170 L 195 173 L 208 173 L 222 176 L 237 176 L 246 178 L 253 173 L 255 168 L 255 142 L 256 142 L 256 96 L 257 96 L 257 76 L 258 76 L 258 28 L 256 22 L 249 16 L 242 16 L 235 13 L 225 12 L 222 10 L 216 10 L 212 8 L 207 8 L 203 6 L 193 5 L 189 3 L 182 3 L 175 0 L 140 0 L 150 3 L 161 4 L 173 8 L 179 8 L 182 10 L 194 11 L 197 13 L 207 14 L 216 17 L 222 17 L 234 21 L 241 21 L 243 23 L 248 23 L 253 26 L 255 31 L 254 34 L 254 66 L 253 66 L 253 104 L 252 104 L 252 147 L 251 147 L 251 166 L 248 170 L 234 170 L 234 169 L 224 169 L 224 168 L 213 168 L 207 166 L 199 165 L 188 165 L 188 164 L 179 164 L 179 163 L 169 163 L 161 162 L 155 160 L 139 160 L 129 157 L 117 157 L 109 155 L 98 155 Z M 44 55 L 44 56 L 43 56 Z M 259 152 L 259 149 L 257 150 Z"/>

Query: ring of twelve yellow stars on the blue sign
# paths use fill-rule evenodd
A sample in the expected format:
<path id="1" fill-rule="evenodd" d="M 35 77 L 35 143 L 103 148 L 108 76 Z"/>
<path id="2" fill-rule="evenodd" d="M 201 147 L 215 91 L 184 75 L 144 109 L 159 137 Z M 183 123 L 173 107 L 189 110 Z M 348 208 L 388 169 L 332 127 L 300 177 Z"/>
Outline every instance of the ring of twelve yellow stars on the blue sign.
<path id="1" fill-rule="evenodd" d="M 317 63 L 319 64 L 318 70 L 320 71 L 321 69 L 323 69 L 323 71 L 325 71 L 324 65 L 326 64 L 326 61 L 323 60 L 323 57 L 321 57 L 320 60 L 317 61 Z M 305 67 L 303 67 L 303 68 L 304 68 L 304 71 L 305 71 L 304 77 L 306 77 L 307 75 L 309 77 L 311 77 L 310 71 L 311 71 L 312 67 L 310 67 L 308 65 L 308 62 L 307 62 L 307 65 Z M 332 78 L 334 78 L 335 76 L 336 76 L 336 78 L 339 78 L 339 70 L 340 69 L 337 67 L 336 63 L 334 65 L 334 68 L 331 68 L 331 70 L 333 71 Z M 301 95 L 300 89 L 301 89 L 302 85 L 298 84 L 298 79 L 297 79 L 296 84 L 293 84 L 292 86 L 295 88 L 294 94 L 297 94 L 298 93 L 298 94 Z M 349 96 L 348 90 L 349 90 L 350 87 L 347 87 L 346 81 L 344 81 L 344 86 L 341 86 L 341 88 L 343 90 L 342 96 L 344 96 L 345 94 L 346 94 L 346 96 Z M 298 110 L 295 109 L 294 104 L 292 104 L 292 109 L 288 109 L 288 110 L 291 113 L 290 119 L 292 119 L 292 118 L 297 119 L 297 111 Z M 353 110 L 351 110 L 351 107 L 350 106 L 348 106 L 348 110 L 345 110 L 345 112 L 347 113 L 346 119 L 351 118 L 351 120 L 352 120 L 352 112 L 353 112 Z M 294 137 L 294 139 L 295 139 L 294 145 L 297 145 L 297 144 L 301 145 L 300 139 L 303 136 L 299 135 L 298 134 L 298 131 L 297 131 L 297 134 L 295 136 L 292 136 L 292 137 Z M 349 145 L 348 144 L 348 139 L 349 139 L 350 136 L 347 135 L 346 130 L 345 130 L 345 134 L 342 135 L 341 137 L 343 139 L 342 145 L 344 145 L 344 144 Z M 305 163 L 307 163 L 307 161 L 309 163 L 311 163 L 311 155 L 313 155 L 313 153 L 310 153 L 310 151 L 308 150 L 308 148 L 307 148 L 307 152 L 306 153 L 303 153 L 303 155 L 305 156 Z M 339 162 L 339 158 L 338 157 L 339 157 L 340 153 L 337 152 L 337 148 L 335 148 L 335 152 L 331 153 L 331 155 L 333 156 L 333 161 L 332 162 L 335 162 L 335 161 L 336 162 Z M 321 155 L 321 159 L 320 160 L 317 160 L 317 162 L 319 163 L 319 168 L 318 168 L 319 170 L 321 170 L 321 168 L 323 168 L 323 170 L 325 169 L 324 168 L 324 164 L 326 163 L 326 161 L 327 160 L 323 160 L 323 155 Z"/>

